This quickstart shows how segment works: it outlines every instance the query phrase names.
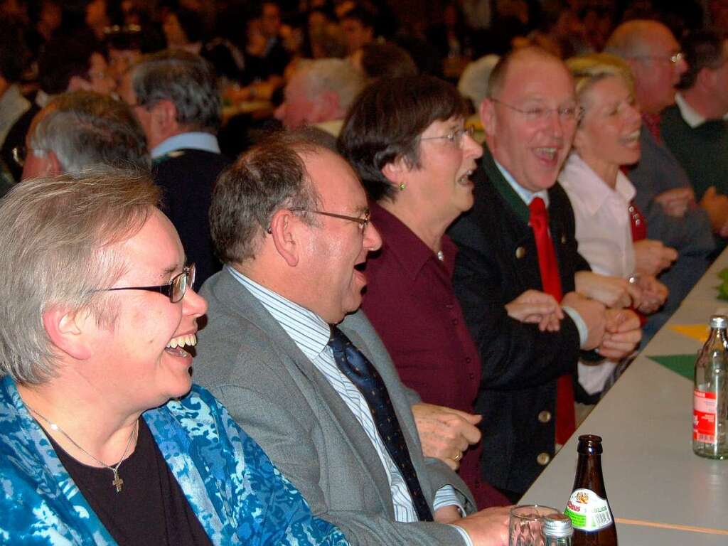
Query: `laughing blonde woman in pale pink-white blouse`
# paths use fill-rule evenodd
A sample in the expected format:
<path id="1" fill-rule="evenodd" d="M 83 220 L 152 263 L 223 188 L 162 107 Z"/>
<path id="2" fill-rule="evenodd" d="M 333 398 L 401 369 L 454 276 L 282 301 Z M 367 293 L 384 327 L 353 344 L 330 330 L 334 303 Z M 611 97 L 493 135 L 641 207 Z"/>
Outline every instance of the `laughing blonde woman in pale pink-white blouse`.
<path id="1" fill-rule="evenodd" d="M 632 292 L 638 294 L 633 305 L 652 313 L 665 303 L 668 289 L 653 274 L 636 270 L 628 210 L 635 189 L 620 170 L 640 158 L 641 118 L 629 68 L 604 54 L 572 58 L 566 64 L 584 114 L 558 181 L 574 209 L 579 253 L 593 272 L 633 282 L 638 289 Z M 598 368 L 579 364 L 579 381 L 587 392 L 598 392 L 609 379 L 609 366 Z"/>

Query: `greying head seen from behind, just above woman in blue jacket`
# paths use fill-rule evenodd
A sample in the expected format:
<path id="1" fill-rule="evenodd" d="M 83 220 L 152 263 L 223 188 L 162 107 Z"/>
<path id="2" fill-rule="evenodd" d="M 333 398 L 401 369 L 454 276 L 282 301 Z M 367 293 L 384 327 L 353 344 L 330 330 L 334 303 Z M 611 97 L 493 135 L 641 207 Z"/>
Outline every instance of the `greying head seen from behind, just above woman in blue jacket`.
<path id="1" fill-rule="evenodd" d="M 25 137 L 23 180 L 75 173 L 95 165 L 148 170 L 144 132 L 130 108 L 108 95 L 58 95 L 33 118 Z"/>

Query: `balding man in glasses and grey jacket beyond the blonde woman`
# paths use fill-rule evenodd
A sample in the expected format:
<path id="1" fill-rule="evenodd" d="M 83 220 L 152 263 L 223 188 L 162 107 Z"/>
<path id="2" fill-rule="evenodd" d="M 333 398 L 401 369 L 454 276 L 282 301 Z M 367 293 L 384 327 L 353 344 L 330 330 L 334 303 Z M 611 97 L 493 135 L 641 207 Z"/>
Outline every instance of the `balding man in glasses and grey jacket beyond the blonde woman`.
<path id="1" fill-rule="evenodd" d="M 683 298 L 708 267 L 707 256 L 714 242 L 707 207 L 698 207 L 687 173 L 662 142 L 660 116 L 675 103 L 676 85 L 687 64 L 673 33 L 655 20 L 631 20 L 614 29 L 604 51 L 627 61 L 634 76 L 635 99 L 642 112 L 640 146 L 642 156 L 629 172 L 637 194 L 633 205 L 646 218 L 647 237 L 678 251 L 673 266 L 660 275 L 670 290 L 662 311 L 650 317 L 645 336 L 649 339 L 677 309 Z M 709 198 L 711 196 L 708 196 Z M 712 194 L 714 199 L 726 199 Z M 653 248 L 636 242 L 636 271 L 655 274 L 650 264 L 664 266 L 669 248 Z"/>

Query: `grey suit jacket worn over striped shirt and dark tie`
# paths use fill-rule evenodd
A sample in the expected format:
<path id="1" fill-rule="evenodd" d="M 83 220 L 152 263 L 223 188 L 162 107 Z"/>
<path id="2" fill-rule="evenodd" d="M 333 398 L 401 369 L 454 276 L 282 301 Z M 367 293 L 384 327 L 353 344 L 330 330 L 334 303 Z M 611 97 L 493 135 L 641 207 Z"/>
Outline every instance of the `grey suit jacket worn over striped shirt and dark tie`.
<path id="1" fill-rule="evenodd" d="M 207 325 L 199 332 L 194 381 L 210 389 L 301 491 L 312 513 L 339 526 L 354 545 L 459 545 L 440 523 L 397 523 L 387 476 L 344 400 L 279 323 L 223 269 L 200 290 Z M 381 373 L 402 424 L 424 495 L 451 484 L 470 491 L 443 462 L 425 460 L 400 382 L 384 345 L 360 312 L 340 325 Z"/>

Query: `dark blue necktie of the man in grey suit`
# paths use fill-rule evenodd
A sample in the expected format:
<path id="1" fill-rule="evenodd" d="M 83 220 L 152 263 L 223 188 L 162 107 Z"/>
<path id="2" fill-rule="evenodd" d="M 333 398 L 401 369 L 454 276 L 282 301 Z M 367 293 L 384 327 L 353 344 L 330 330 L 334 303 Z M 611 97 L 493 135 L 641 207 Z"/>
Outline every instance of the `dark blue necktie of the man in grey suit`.
<path id="1" fill-rule="evenodd" d="M 419 520 L 432 521 L 430 506 L 427 505 L 427 500 L 422 494 L 422 487 L 419 485 L 412 465 L 400 422 L 397 420 L 395 408 L 392 406 L 389 392 L 387 392 L 387 387 L 379 372 L 336 326 L 331 328 L 331 340 L 328 344 L 333 349 L 333 358 L 336 360 L 339 370 L 355 384 L 366 400 L 376 430 L 379 431 L 379 436 L 384 442 L 384 446 L 387 447 L 389 456 L 397 464 L 397 468 L 405 479 Z"/>

